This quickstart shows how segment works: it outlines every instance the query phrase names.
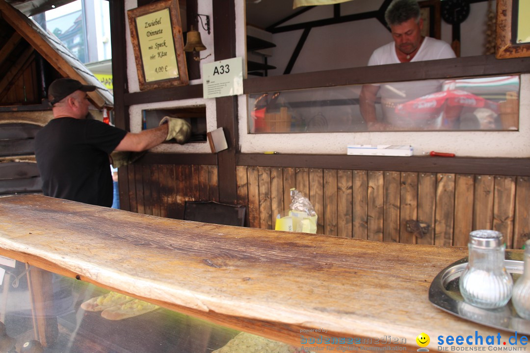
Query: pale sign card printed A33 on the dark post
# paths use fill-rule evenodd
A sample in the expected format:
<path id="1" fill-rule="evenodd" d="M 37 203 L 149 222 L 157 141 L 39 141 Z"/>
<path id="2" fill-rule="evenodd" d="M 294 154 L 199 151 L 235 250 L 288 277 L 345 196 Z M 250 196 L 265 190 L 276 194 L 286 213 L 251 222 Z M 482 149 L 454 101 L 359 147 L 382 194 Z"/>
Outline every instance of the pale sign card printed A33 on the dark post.
<path id="1" fill-rule="evenodd" d="M 202 94 L 205 98 L 243 94 L 243 59 L 232 58 L 202 65 Z"/>

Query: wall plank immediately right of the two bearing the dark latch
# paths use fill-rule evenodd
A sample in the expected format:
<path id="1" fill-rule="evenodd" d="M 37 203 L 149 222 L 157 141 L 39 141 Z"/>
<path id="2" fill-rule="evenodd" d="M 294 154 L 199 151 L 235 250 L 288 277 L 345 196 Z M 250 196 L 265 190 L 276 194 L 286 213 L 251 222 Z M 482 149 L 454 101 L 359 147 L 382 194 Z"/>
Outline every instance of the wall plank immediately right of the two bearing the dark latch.
<path id="1" fill-rule="evenodd" d="M 455 175 L 438 174 L 436 176 L 436 222 L 434 229 L 435 245 L 452 245 Z"/>

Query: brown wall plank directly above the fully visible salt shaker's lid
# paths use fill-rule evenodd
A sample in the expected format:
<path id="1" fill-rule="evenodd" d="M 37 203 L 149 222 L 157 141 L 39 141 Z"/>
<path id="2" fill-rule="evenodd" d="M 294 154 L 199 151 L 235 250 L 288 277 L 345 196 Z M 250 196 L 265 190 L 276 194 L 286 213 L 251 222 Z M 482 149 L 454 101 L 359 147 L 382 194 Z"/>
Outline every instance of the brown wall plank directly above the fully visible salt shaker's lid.
<path id="1" fill-rule="evenodd" d="M 493 229 L 494 182 L 492 175 L 475 176 L 473 229 Z"/>

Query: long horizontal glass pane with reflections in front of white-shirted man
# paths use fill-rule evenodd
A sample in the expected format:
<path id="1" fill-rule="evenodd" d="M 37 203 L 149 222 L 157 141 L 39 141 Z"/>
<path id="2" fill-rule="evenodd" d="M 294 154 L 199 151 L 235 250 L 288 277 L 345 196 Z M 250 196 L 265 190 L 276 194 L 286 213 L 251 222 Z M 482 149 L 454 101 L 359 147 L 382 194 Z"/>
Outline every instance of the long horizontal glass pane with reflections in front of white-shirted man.
<path id="1" fill-rule="evenodd" d="M 519 76 L 250 94 L 249 133 L 517 131 Z"/>

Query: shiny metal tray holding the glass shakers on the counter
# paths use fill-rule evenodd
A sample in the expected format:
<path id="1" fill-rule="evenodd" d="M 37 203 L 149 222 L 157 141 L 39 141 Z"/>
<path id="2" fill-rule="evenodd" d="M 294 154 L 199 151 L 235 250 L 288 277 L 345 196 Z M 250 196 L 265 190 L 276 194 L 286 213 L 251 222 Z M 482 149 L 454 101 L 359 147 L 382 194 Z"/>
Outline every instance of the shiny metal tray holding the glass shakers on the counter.
<path id="1" fill-rule="evenodd" d="M 458 281 L 466 265 L 467 257 L 447 266 L 432 280 L 429 288 L 430 302 L 441 310 L 466 320 L 505 331 L 530 334 L 530 321 L 517 315 L 511 300 L 498 309 L 481 309 L 464 302 Z M 506 251 L 504 265 L 515 283 L 523 273 L 523 253 Z"/>

